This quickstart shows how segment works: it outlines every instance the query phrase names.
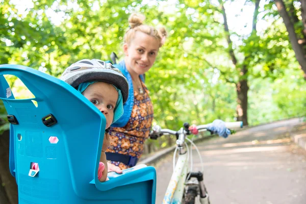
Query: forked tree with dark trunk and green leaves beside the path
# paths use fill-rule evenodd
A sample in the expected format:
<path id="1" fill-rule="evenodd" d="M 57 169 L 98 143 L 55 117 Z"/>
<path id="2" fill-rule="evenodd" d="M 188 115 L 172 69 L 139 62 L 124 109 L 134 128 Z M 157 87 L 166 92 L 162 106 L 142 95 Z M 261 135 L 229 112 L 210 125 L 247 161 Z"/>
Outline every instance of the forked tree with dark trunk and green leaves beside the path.
<path id="1" fill-rule="evenodd" d="M 219 12 L 223 16 L 225 38 L 228 44 L 228 48 L 225 50 L 227 50 L 236 72 L 229 73 L 224 69 L 220 69 L 220 71 L 226 82 L 235 84 L 238 120 L 248 124 L 247 109 L 249 107 L 248 91 L 250 81 L 257 78 L 276 79 L 282 77 L 284 70 L 288 68 L 290 52 L 289 46 L 286 43 L 286 33 L 277 25 L 277 17 L 271 17 L 271 14 L 274 12 L 273 9 L 266 6 L 265 10 L 259 12 L 260 0 L 246 1 L 245 4 L 251 4 L 254 7 L 252 27 L 249 35 L 239 36 L 228 29 L 224 7 L 224 4 L 228 2 L 219 1 Z M 260 31 L 257 24 L 259 20 L 263 19 L 275 23 L 271 23 L 266 30 Z M 231 37 L 235 36 L 239 37 L 242 42 L 241 45 L 233 44 Z"/>

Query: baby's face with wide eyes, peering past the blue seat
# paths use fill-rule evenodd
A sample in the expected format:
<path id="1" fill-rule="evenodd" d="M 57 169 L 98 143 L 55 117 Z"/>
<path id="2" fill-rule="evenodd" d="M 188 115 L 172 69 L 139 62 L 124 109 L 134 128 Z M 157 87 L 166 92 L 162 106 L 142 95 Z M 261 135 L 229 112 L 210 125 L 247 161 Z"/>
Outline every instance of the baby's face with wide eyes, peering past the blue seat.
<path id="1" fill-rule="evenodd" d="M 112 124 L 118 91 L 108 83 L 96 82 L 87 87 L 83 95 L 91 101 L 106 118 L 106 129 Z"/>

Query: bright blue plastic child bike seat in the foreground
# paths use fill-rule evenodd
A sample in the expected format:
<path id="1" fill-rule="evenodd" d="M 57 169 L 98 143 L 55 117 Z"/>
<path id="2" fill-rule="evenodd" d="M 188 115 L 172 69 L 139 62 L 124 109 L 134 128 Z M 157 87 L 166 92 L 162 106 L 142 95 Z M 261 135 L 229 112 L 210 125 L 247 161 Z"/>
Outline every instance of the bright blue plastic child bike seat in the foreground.
<path id="1" fill-rule="evenodd" d="M 14 99 L 3 74 L 18 77 L 35 98 Z M 19 204 L 155 203 L 154 167 L 98 181 L 106 119 L 70 85 L 30 67 L 0 65 L 0 98 L 18 123 L 10 124 L 10 170 Z M 58 142 L 50 143 L 50 137 Z M 38 173 L 30 169 L 32 162 Z"/>

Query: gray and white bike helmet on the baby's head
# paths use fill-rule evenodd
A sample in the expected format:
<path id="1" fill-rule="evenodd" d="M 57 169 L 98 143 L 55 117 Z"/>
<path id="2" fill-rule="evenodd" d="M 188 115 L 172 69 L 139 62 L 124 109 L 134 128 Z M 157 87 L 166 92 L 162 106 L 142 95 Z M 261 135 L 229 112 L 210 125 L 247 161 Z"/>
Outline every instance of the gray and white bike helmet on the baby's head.
<path id="1" fill-rule="evenodd" d="M 73 88 L 78 88 L 84 82 L 106 82 L 121 90 L 123 104 L 129 96 L 129 84 L 121 71 L 111 63 L 97 59 L 84 59 L 67 67 L 61 80 Z"/>

